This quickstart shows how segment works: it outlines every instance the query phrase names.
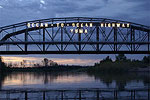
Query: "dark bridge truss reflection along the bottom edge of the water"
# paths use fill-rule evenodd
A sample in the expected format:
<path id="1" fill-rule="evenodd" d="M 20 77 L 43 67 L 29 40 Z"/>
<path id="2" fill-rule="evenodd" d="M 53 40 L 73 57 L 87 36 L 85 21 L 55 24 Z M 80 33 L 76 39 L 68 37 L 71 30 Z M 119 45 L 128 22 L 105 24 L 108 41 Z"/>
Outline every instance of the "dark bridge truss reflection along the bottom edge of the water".
<path id="1" fill-rule="evenodd" d="M 5 98 L 5 99 L 3 99 Z M 0 100 L 149 100 L 149 89 L 1 90 Z"/>

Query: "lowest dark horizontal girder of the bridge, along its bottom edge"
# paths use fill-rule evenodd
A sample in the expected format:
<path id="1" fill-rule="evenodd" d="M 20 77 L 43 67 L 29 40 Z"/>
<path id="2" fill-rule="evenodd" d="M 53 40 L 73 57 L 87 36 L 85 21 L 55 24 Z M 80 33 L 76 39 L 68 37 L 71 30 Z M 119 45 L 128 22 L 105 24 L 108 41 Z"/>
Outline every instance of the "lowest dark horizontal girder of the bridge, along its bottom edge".
<path id="1" fill-rule="evenodd" d="M 150 51 L 0 51 L 0 54 L 150 54 Z"/>

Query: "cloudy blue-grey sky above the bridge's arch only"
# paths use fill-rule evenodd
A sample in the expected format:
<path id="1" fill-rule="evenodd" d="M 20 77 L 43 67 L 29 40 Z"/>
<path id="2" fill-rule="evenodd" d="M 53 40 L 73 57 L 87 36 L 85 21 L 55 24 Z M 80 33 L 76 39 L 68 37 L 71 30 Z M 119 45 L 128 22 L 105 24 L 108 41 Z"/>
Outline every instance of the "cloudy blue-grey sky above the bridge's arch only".
<path id="1" fill-rule="evenodd" d="M 107 17 L 148 24 L 149 0 L 0 0 L 0 26 L 50 17 Z M 125 16 L 122 16 L 125 15 Z M 6 20 L 7 18 L 7 20 Z M 5 22 L 4 22 L 5 20 Z"/>

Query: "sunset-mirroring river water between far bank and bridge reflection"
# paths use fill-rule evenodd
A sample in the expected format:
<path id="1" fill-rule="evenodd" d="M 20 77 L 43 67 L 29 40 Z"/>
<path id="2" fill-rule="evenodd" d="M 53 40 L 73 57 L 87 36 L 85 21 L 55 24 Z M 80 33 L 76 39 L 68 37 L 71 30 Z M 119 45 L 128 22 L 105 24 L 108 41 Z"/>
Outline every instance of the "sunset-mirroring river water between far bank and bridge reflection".
<path id="1" fill-rule="evenodd" d="M 12 72 L 0 76 L 1 89 L 148 88 L 148 73 Z"/>

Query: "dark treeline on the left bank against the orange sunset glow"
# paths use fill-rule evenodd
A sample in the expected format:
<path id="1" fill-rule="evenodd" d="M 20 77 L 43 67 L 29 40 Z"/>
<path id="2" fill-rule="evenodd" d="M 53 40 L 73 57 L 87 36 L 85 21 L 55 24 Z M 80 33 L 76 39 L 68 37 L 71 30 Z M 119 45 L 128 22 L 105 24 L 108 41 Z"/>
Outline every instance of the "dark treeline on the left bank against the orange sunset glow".
<path id="1" fill-rule="evenodd" d="M 3 72 L 12 72 L 12 71 L 21 71 L 21 72 L 34 72 L 34 71 L 77 71 L 79 69 L 84 68 L 80 65 L 59 65 L 58 63 L 49 60 L 47 58 L 44 58 L 40 63 L 34 63 L 30 64 L 30 66 L 27 66 L 28 63 L 26 60 L 23 60 L 22 62 L 16 64 L 16 63 L 8 63 L 5 64 L 2 60 L 2 57 L 0 57 L 0 71 Z"/>

